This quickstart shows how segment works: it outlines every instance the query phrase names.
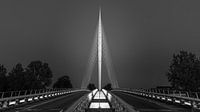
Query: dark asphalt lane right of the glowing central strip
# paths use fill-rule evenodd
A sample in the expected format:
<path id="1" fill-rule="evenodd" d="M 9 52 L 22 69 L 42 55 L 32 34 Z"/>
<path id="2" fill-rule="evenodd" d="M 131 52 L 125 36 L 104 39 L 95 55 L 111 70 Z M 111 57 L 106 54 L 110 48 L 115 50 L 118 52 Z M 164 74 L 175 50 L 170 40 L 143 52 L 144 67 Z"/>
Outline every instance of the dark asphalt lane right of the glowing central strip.
<path id="1" fill-rule="evenodd" d="M 178 105 L 166 104 L 164 102 L 143 98 L 128 93 L 116 92 L 116 91 L 112 93 L 120 97 L 130 106 L 132 106 L 132 108 L 139 110 L 140 112 L 193 112 L 190 108 Z"/>

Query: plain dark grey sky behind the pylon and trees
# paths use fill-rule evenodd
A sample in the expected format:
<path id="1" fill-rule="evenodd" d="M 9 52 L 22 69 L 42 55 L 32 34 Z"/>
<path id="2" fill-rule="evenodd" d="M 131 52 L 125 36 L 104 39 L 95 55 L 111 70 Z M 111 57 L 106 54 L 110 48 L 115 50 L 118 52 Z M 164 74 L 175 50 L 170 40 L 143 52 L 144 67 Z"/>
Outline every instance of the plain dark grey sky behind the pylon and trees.
<path id="1" fill-rule="evenodd" d="M 200 54 L 199 4 L 199 0 L 1 0 L 0 63 L 10 70 L 18 62 L 27 66 L 42 60 L 50 64 L 54 80 L 69 75 L 80 87 L 101 6 L 119 86 L 168 85 L 165 74 L 173 53 Z"/>

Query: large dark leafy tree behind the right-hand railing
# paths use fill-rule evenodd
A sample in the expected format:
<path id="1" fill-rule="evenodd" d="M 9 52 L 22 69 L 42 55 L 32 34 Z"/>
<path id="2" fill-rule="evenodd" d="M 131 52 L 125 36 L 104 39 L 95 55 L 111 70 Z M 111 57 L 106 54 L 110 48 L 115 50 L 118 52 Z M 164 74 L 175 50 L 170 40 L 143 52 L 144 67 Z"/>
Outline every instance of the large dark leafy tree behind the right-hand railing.
<path id="1" fill-rule="evenodd" d="M 194 53 L 180 51 L 173 54 L 167 72 L 168 81 L 172 88 L 186 91 L 200 89 L 200 58 Z"/>

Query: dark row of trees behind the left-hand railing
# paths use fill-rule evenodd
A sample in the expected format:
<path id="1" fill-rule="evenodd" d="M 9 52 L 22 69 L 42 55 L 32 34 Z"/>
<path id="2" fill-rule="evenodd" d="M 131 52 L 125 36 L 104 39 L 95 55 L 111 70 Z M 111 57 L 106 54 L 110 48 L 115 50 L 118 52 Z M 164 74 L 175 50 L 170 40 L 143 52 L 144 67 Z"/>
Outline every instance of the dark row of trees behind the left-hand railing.
<path id="1" fill-rule="evenodd" d="M 16 64 L 10 72 L 0 64 L 0 91 L 46 89 L 52 84 L 53 73 L 48 63 L 32 61 L 25 68 Z M 69 76 L 62 76 L 53 88 L 72 88 Z"/>

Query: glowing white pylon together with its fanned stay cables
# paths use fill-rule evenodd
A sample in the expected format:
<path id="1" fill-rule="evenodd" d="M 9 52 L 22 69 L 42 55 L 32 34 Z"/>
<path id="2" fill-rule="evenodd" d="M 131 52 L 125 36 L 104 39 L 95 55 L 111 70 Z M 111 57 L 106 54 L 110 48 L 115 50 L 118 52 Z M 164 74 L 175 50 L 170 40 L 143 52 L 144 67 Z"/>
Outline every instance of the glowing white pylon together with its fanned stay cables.
<path id="1" fill-rule="evenodd" d="M 102 13 L 101 9 L 99 9 L 98 15 L 98 24 L 97 29 L 94 36 L 94 42 L 91 49 L 91 54 L 88 61 L 88 67 L 85 76 L 83 77 L 81 88 L 87 88 L 92 73 L 95 67 L 95 63 L 97 62 L 97 75 L 98 75 L 98 89 L 102 89 L 102 66 L 105 63 L 105 67 L 107 69 L 108 78 L 112 84 L 113 88 L 119 88 L 115 72 L 112 66 L 112 59 L 109 51 L 109 47 L 107 45 L 107 39 L 105 36 L 103 24 L 102 24 Z"/>

